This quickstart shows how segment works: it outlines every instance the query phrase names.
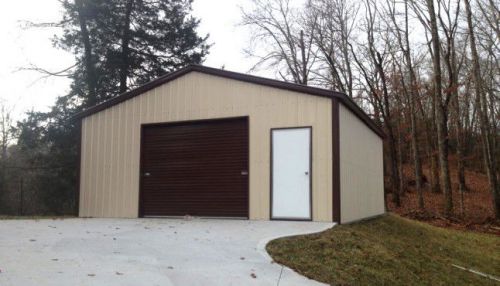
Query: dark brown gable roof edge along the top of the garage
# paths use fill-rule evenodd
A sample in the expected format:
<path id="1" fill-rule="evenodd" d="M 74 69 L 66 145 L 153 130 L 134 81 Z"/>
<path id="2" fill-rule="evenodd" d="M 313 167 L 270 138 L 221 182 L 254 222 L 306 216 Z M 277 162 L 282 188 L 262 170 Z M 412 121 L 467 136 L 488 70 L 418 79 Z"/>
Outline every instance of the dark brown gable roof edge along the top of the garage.
<path id="1" fill-rule="evenodd" d="M 363 123 L 365 123 L 378 136 L 380 136 L 382 138 L 385 137 L 384 131 L 380 128 L 380 126 L 378 126 L 375 122 L 373 122 L 373 120 L 349 96 L 347 96 L 344 93 L 332 91 L 332 90 L 328 90 L 328 89 L 323 89 L 323 88 L 317 88 L 317 87 L 312 87 L 312 86 L 306 86 L 306 85 L 301 85 L 301 84 L 279 81 L 279 80 L 275 80 L 275 79 L 258 77 L 258 76 L 243 74 L 243 73 L 237 73 L 237 72 L 231 72 L 231 71 L 226 71 L 226 70 L 221 70 L 221 69 L 216 69 L 216 68 L 210 68 L 210 67 L 201 66 L 201 65 L 188 65 L 185 68 L 182 68 L 182 69 L 177 70 L 175 72 L 161 76 L 161 77 L 159 77 L 155 80 L 152 80 L 144 85 L 141 85 L 135 89 L 132 89 L 130 91 L 122 93 L 122 94 L 120 94 L 116 97 L 113 97 L 109 100 L 106 100 L 98 105 L 95 105 L 93 107 L 90 107 L 90 108 L 82 111 L 82 112 L 79 112 L 73 118 L 74 119 L 83 119 L 87 116 L 90 116 L 94 113 L 97 113 L 99 111 L 107 109 L 111 106 L 117 105 L 117 104 L 124 102 L 128 99 L 131 99 L 133 97 L 136 97 L 140 94 L 143 94 L 144 92 L 146 92 L 148 90 L 151 90 L 157 86 L 160 86 L 164 83 L 172 81 L 176 78 L 179 78 L 179 77 L 181 77 L 185 74 L 188 74 L 190 72 L 193 72 L 193 71 L 203 73 L 203 74 L 214 75 L 214 76 L 219 76 L 219 77 L 223 77 L 223 78 L 229 78 L 229 79 L 234 79 L 234 80 L 238 80 L 238 81 L 248 82 L 248 83 L 254 83 L 254 84 L 263 85 L 263 86 L 269 86 L 269 87 L 274 87 L 274 88 L 279 88 L 279 89 L 285 89 L 285 90 L 305 93 L 305 94 L 309 94 L 309 95 L 313 95 L 313 96 L 320 96 L 320 97 L 326 97 L 326 98 L 336 98 L 342 104 L 344 104 L 344 106 L 346 106 L 351 112 L 353 112 L 361 121 L 363 121 Z"/>

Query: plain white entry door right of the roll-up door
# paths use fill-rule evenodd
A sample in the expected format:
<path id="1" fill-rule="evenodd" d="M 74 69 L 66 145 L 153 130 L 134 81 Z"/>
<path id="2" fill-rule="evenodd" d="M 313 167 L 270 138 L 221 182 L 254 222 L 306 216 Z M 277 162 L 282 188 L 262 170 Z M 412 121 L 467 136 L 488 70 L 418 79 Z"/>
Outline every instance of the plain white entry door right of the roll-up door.
<path id="1" fill-rule="evenodd" d="M 311 128 L 271 131 L 271 218 L 311 219 Z"/>

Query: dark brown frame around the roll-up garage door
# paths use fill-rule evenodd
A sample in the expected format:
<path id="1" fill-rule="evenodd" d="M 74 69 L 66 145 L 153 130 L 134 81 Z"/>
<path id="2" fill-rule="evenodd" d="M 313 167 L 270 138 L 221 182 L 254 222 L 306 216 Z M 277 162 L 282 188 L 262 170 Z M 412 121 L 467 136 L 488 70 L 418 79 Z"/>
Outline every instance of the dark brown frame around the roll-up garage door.
<path id="1" fill-rule="evenodd" d="M 140 146 L 139 146 L 139 192 L 138 192 L 138 208 L 137 208 L 137 216 L 139 218 L 144 217 L 144 207 L 142 204 L 143 201 L 143 176 L 144 173 L 144 156 L 143 156 L 143 147 L 144 147 L 144 128 L 151 126 L 175 126 L 175 125 L 184 125 L 189 123 L 210 123 L 216 121 L 232 121 L 232 120 L 245 120 L 246 128 L 247 128 L 247 216 L 246 219 L 250 219 L 250 117 L 247 116 L 235 116 L 235 117 L 219 117 L 219 118 L 207 118 L 207 119 L 193 119 L 193 120 L 179 120 L 179 121 L 166 121 L 166 122 L 152 122 L 152 123 L 141 123 L 140 125 Z M 245 219 L 245 217 L 241 217 L 241 219 Z"/>

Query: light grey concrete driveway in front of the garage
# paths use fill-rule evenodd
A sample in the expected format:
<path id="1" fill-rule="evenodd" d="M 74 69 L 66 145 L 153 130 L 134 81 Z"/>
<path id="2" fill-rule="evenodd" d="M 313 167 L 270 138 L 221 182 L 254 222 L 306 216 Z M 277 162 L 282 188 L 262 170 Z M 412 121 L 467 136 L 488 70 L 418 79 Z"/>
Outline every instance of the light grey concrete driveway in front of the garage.
<path id="1" fill-rule="evenodd" d="M 0 220 L 0 285 L 321 285 L 271 261 L 272 238 L 331 223 Z"/>

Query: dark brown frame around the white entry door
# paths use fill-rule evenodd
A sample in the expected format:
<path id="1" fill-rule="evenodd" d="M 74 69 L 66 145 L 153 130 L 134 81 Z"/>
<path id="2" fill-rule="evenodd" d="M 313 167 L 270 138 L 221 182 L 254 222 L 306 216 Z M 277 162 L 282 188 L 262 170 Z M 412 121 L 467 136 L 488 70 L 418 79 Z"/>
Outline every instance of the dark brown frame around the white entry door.
<path id="1" fill-rule="evenodd" d="M 274 165 L 273 165 L 273 131 L 278 131 L 278 130 L 289 130 L 289 129 L 309 129 L 309 218 L 293 218 L 293 217 L 278 217 L 278 218 L 274 218 L 273 217 L 273 168 L 274 168 Z M 269 195 L 270 195 L 270 199 L 269 199 L 269 219 L 270 220 L 284 220 L 284 221 L 312 221 L 313 220 L 313 217 L 312 217 L 312 214 L 313 214 L 313 203 L 312 203 L 312 195 L 313 195 L 313 192 L 312 192 L 312 188 L 313 188 L 313 164 L 312 164 L 312 161 L 313 161 L 313 153 L 312 153 L 312 139 L 313 139 L 313 136 L 312 136 L 312 133 L 313 133 L 313 128 L 312 126 L 294 126 L 294 127 L 279 127 L 279 128 L 271 128 L 270 131 L 269 131 L 269 134 L 270 134 L 270 154 L 271 154 L 271 158 L 270 158 L 270 177 L 269 177 L 269 183 L 270 183 L 270 186 L 269 186 L 269 189 L 270 189 L 270 192 L 269 192 Z"/>

